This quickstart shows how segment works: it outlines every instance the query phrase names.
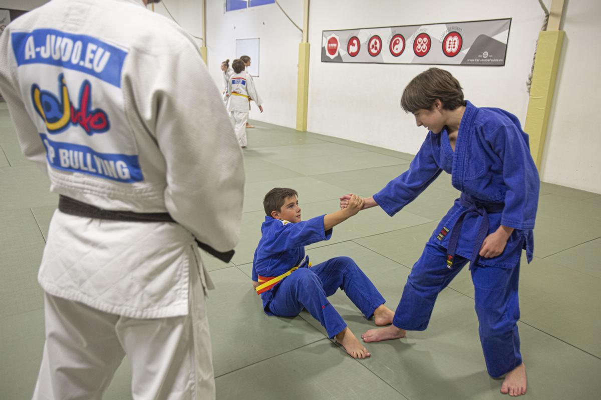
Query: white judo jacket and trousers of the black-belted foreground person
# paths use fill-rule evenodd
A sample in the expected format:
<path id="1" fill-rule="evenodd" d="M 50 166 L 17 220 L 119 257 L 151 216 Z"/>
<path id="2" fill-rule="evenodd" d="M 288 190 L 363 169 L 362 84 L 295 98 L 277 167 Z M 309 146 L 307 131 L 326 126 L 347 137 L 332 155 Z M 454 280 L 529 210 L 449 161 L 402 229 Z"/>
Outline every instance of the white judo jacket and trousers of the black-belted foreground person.
<path id="1" fill-rule="evenodd" d="M 194 40 L 141 0 L 53 0 L 0 37 L 0 92 L 50 191 L 178 222 L 56 210 L 34 399 L 100 398 L 125 354 L 135 399 L 214 398 L 213 285 L 194 238 L 236 245 L 244 172 Z"/>

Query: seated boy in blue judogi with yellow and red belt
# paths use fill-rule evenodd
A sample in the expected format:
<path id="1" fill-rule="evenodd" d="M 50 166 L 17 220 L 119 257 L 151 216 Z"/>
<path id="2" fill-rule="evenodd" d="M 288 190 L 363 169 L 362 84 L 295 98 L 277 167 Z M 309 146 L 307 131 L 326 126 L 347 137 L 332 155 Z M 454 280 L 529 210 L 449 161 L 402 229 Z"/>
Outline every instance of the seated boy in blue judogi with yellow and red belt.
<path id="1" fill-rule="evenodd" d="M 252 263 L 252 281 L 263 299 L 267 315 L 294 317 L 306 308 L 354 358 L 370 353 L 328 302 L 341 288 L 365 318 L 374 316 L 378 326 L 388 325 L 394 313 L 370 279 L 349 257 L 335 257 L 311 267 L 305 246 L 328 240 L 332 227 L 355 215 L 363 201 L 351 196 L 349 205 L 337 212 L 301 221 L 296 191 L 273 188 L 263 200 L 266 217 L 261 240 Z"/>

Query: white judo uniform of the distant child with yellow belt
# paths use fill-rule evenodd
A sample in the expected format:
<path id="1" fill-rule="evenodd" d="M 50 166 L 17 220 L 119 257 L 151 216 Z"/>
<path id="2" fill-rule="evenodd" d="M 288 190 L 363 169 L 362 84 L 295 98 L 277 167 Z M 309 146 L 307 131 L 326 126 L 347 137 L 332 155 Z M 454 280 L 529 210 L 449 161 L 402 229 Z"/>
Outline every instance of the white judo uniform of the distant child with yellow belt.
<path id="1" fill-rule="evenodd" d="M 263 101 L 257 94 L 252 77 L 246 71 L 234 72 L 230 77 L 230 80 L 228 80 L 228 94 L 230 95 L 228 110 L 230 111 L 231 123 L 234 125 L 238 143 L 240 143 L 240 146 L 246 147 L 246 122 L 248 122 L 249 102 L 252 100 L 257 103 L 257 106 L 260 106 Z"/>

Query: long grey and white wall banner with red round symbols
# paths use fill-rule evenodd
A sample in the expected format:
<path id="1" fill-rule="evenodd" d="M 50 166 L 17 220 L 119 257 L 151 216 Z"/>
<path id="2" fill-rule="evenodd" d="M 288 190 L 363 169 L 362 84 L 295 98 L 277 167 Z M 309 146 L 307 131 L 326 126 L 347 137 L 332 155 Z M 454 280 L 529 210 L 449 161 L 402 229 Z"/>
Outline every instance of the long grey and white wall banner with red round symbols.
<path id="1" fill-rule="evenodd" d="M 322 32 L 322 62 L 505 65 L 511 18 Z"/>

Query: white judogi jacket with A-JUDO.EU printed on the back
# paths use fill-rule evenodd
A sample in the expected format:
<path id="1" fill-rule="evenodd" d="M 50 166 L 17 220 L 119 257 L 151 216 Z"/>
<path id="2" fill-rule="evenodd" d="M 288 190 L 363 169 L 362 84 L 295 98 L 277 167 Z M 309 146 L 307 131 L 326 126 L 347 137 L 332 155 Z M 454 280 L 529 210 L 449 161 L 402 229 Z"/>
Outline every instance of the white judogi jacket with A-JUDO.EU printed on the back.
<path id="1" fill-rule="evenodd" d="M 141 0 L 53 0 L 0 37 L 0 91 L 50 191 L 179 222 L 57 210 L 38 276 L 44 290 L 127 317 L 186 315 L 189 267 L 200 263 L 194 236 L 218 251 L 236 245 L 244 184 L 194 40 Z"/>

